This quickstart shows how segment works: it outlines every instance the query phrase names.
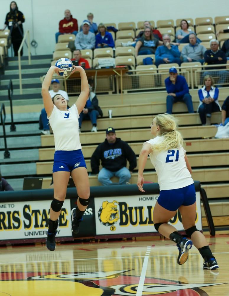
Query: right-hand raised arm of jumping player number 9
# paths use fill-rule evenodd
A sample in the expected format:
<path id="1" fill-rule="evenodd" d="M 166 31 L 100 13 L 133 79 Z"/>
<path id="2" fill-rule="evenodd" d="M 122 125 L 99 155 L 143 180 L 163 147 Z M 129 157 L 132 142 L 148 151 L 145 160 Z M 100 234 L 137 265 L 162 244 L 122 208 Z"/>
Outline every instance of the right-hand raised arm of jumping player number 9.
<path id="1" fill-rule="evenodd" d="M 73 66 L 73 67 L 74 67 L 74 70 L 72 73 L 78 71 L 80 73 L 80 78 L 81 78 L 81 93 L 75 102 L 78 113 L 80 114 L 87 102 L 89 87 L 88 87 L 87 75 L 85 73 L 85 70 L 82 67 L 77 67 L 77 66 Z"/>

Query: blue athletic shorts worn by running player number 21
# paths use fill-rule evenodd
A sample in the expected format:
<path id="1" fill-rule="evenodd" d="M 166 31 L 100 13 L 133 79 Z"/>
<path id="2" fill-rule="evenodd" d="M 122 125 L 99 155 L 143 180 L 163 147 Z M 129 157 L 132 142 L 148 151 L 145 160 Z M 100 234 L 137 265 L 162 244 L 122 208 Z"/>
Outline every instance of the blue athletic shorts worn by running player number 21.
<path id="1" fill-rule="evenodd" d="M 169 211 L 176 211 L 181 205 L 193 205 L 195 201 L 194 184 L 178 189 L 161 190 L 157 199 L 159 205 Z"/>

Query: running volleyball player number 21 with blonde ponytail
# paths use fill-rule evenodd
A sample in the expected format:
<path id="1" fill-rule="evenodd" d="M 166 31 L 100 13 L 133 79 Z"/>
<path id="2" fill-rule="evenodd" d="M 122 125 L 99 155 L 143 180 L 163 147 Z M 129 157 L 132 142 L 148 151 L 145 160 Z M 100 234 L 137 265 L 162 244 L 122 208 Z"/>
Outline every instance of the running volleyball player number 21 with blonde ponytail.
<path id="1" fill-rule="evenodd" d="M 183 149 L 183 139 L 176 130 L 176 119 L 169 114 L 158 114 L 151 124 L 151 134 L 155 136 L 145 142 L 139 155 L 137 186 L 144 192 L 143 170 L 148 154 L 155 167 L 160 195 L 153 210 L 155 229 L 164 237 L 177 244 L 179 265 L 186 262 L 192 244 L 204 258 L 205 269 L 219 268 L 204 235 L 196 229 L 196 192 L 191 177 L 191 166 Z M 187 234 L 180 235 L 176 228 L 168 224 L 179 209 L 182 224 Z"/>

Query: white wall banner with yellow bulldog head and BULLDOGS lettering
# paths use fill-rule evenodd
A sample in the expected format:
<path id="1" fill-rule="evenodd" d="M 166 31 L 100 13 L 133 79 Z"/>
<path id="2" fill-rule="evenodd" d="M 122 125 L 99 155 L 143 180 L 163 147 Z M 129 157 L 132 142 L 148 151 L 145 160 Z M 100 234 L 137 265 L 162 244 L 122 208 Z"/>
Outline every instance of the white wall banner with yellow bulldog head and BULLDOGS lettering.
<path id="1" fill-rule="evenodd" d="M 95 198 L 96 234 L 156 232 L 153 208 L 158 194 Z M 178 231 L 184 230 L 178 212 L 169 222 Z M 196 227 L 202 230 L 200 193 L 196 192 Z"/>

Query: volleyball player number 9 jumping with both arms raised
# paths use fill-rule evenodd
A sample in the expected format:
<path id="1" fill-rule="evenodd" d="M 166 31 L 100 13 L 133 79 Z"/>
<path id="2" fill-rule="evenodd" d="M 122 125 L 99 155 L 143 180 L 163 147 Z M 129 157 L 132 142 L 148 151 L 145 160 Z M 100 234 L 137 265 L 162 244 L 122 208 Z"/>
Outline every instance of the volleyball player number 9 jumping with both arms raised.
<path id="1" fill-rule="evenodd" d="M 53 130 L 55 140 L 55 154 L 53 163 L 54 198 L 50 207 L 48 219 L 48 235 L 46 246 L 48 250 L 56 248 L 55 236 L 58 226 L 58 218 L 63 206 L 70 174 L 77 188 L 79 196 L 77 207 L 72 210 L 72 231 L 79 232 L 79 224 L 89 204 L 90 187 L 87 175 L 86 163 L 82 154 L 79 141 L 78 118 L 88 99 L 89 88 L 85 70 L 82 67 L 73 66 L 72 73 L 78 71 L 81 78 L 81 93 L 75 104 L 67 109 L 67 101 L 60 94 L 51 98 L 48 89 L 53 73 L 59 74 L 59 68 L 49 68 L 42 84 L 42 97 L 47 117 Z"/>

